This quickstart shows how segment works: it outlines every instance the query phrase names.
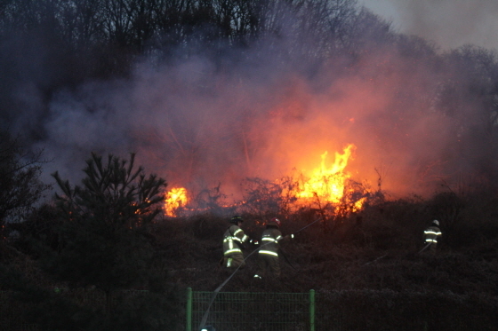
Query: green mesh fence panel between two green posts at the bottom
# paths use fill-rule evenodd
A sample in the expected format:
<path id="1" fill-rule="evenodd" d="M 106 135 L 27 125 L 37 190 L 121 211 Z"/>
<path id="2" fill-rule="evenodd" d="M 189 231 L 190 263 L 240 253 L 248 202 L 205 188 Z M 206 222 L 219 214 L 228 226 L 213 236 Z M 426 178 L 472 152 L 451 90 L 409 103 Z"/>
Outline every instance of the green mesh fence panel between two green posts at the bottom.
<path id="1" fill-rule="evenodd" d="M 309 293 L 196 292 L 187 290 L 186 330 L 315 331 L 315 291 Z"/>

